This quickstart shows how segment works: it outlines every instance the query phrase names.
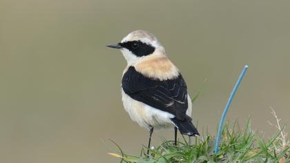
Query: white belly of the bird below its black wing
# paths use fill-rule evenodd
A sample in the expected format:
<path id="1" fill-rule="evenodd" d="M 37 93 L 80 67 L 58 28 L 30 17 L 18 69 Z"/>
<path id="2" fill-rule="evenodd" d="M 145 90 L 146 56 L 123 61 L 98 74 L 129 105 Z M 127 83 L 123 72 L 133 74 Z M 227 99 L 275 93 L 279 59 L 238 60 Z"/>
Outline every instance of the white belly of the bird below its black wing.
<path id="1" fill-rule="evenodd" d="M 188 99 L 190 99 L 189 96 Z M 175 115 L 160 111 L 159 109 L 148 106 L 142 102 L 138 102 L 137 100 L 126 95 L 124 90 L 122 90 L 122 101 L 124 108 L 130 115 L 131 119 L 144 128 L 149 129 L 150 126 L 153 126 L 157 129 L 173 126 L 171 118 L 175 117 Z M 189 109 L 187 109 L 186 115 L 191 117 L 191 100 L 188 101 Z"/>

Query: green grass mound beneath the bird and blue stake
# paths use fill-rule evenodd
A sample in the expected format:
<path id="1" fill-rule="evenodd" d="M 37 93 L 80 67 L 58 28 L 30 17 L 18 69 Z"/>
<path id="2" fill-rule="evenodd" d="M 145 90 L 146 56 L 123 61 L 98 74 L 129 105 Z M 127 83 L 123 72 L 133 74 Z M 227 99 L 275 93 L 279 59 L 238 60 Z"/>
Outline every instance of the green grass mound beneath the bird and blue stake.
<path id="1" fill-rule="evenodd" d="M 273 112 L 275 113 L 275 112 Z M 276 115 L 276 114 L 275 114 Z M 139 156 L 128 155 L 122 148 L 119 153 L 108 153 L 119 157 L 120 162 L 290 162 L 290 144 L 286 140 L 287 133 L 284 127 L 280 127 L 280 119 L 273 125 L 278 128 L 278 133 L 263 140 L 258 133 L 251 129 L 248 120 L 244 130 L 238 123 L 225 124 L 222 131 L 220 151 L 214 153 L 215 137 L 202 135 L 193 137 L 193 143 L 189 145 L 184 139 L 174 145 L 171 140 L 164 140 L 162 144 L 151 148 L 146 155 L 147 148 L 143 146 Z M 113 142 L 115 144 L 115 142 Z M 117 145 L 117 144 L 115 144 Z"/>

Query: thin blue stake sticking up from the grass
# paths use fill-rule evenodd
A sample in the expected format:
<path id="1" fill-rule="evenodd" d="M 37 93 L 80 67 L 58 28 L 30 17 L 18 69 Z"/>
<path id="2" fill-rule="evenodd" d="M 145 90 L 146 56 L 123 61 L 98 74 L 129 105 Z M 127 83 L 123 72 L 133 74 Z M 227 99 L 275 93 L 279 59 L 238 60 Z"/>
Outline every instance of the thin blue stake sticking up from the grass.
<path id="1" fill-rule="evenodd" d="M 218 153 L 218 147 L 220 146 L 220 138 L 222 136 L 222 127 L 224 126 L 224 119 L 226 118 L 226 113 L 228 112 L 229 106 L 231 105 L 231 101 L 233 100 L 233 97 L 235 96 L 235 92 L 240 86 L 242 78 L 244 77 L 244 74 L 247 72 L 248 68 L 249 66 L 247 65 L 244 66 L 244 69 L 242 70 L 242 73 L 240 74 L 238 81 L 235 83 L 235 86 L 233 87 L 233 90 L 231 91 L 231 95 L 229 97 L 228 102 L 226 103 L 226 107 L 224 107 L 224 112 L 222 113 L 222 118 L 220 119 L 220 125 L 218 127 L 218 135 L 215 140 L 215 154 Z"/>

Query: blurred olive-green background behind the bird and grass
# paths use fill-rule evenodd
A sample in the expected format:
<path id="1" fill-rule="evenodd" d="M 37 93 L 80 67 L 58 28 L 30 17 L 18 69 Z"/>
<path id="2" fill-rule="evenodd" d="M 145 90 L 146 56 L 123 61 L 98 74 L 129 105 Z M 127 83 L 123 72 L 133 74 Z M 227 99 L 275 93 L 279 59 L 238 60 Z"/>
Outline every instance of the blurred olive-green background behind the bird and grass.
<path id="1" fill-rule="evenodd" d="M 290 119 L 290 1 L 0 0 L 0 162 L 117 162 L 139 154 L 148 131 L 121 102 L 126 61 L 106 48 L 133 30 L 153 32 L 182 71 L 199 130 L 215 134 L 249 64 L 229 119 L 264 137 L 270 106 Z M 207 79 L 204 85 L 204 80 Z M 203 129 L 204 128 L 204 129 Z M 289 131 L 289 130 L 288 130 Z M 153 135 L 173 139 L 173 131 Z"/>

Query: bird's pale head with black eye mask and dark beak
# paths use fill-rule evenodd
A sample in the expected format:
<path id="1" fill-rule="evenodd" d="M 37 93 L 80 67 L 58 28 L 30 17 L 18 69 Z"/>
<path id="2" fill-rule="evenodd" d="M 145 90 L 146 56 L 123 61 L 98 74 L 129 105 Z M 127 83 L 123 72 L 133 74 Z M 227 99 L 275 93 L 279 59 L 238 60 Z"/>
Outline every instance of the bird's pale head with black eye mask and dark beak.
<path id="1" fill-rule="evenodd" d="M 135 30 L 118 44 L 110 44 L 107 47 L 121 50 L 128 65 L 133 65 L 149 55 L 165 55 L 164 47 L 157 38 L 145 30 Z"/>

